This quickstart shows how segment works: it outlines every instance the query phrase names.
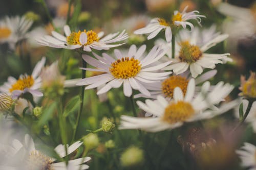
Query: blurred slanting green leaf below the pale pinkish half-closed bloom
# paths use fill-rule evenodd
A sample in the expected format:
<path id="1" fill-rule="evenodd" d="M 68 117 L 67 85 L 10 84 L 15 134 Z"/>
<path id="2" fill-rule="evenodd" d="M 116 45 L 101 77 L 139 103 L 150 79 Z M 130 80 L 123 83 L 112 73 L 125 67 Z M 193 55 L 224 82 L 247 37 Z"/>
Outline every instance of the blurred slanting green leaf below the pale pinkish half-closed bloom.
<path id="1" fill-rule="evenodd" d="M 42 115 L 37 124 L 38 128 L 44 126 L 47 123 L 47 121 L 52 117 L 52 114 L 54 113 L 56 106 L 57 103 L 53 102 L 49 107 L 46 107 L 46 109 L 42 110 Z"/>

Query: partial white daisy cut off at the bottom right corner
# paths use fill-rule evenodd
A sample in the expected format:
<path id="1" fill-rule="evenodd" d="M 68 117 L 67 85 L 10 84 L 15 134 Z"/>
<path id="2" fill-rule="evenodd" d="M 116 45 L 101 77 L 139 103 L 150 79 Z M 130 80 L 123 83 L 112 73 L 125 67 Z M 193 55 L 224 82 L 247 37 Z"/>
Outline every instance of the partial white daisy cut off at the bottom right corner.
<path id="1" fill-rule="evenodd" d="M 251 143 L 244 143 L 244 146 L 241 150 L 237 150 L 236 153 L 239 155 L 240 159 L 242 160 L 241 166 L 249 167 L 249 170 L 256 169 L 256 147 Z"/>

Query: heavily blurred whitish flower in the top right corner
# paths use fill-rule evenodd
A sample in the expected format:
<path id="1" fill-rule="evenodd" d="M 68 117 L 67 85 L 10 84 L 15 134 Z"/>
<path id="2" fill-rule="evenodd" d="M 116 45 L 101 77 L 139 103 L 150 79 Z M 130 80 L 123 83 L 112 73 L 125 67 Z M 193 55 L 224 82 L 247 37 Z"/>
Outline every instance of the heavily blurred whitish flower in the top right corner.
<path id="1" fill-rule="evenodd" d="M 243 38 L 256 39 L 256 10 L 253 10 L 253 7 L 247 9 L 221 3 L 217 9 L 220 13 L 231 17 L 223 23 L 223 31 L 229 34 L 227 45 L 231 50 L 236 50 L 238 41 Z"/>

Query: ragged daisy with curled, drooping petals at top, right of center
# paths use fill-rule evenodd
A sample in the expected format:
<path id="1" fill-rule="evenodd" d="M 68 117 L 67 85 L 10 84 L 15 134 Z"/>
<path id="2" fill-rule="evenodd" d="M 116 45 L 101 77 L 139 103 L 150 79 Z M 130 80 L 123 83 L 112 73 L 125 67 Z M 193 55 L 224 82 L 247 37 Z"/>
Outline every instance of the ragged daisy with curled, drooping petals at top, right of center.
<path id="1" fill-rule="evenodd" d="M 188 7 L 188 6 L 187 6 Z M 167 42 L 172 41 L 172 25 L 182 26 L 184 29 L 188 25 L 190 29 L 193 29 L 194 26 L 192 23 L 188 22 L 189 19 L 196 19 L 200 25 L 201 18 L 205 17 L 204 15 L 198 15 L 198 11 L 191 11 L 186 13 L 187 7 L 180 13 L 178 11 L 174 11 L 174 15 L 172 18 L 172 22 L 168 22 L 163 18 L 153 18 L 150 23 L 144 28 L 136 30 L 134 34 L 149 34 L 147 39 L 154 38 L 161 30 L 165 30 L 165 39 Z"/>

